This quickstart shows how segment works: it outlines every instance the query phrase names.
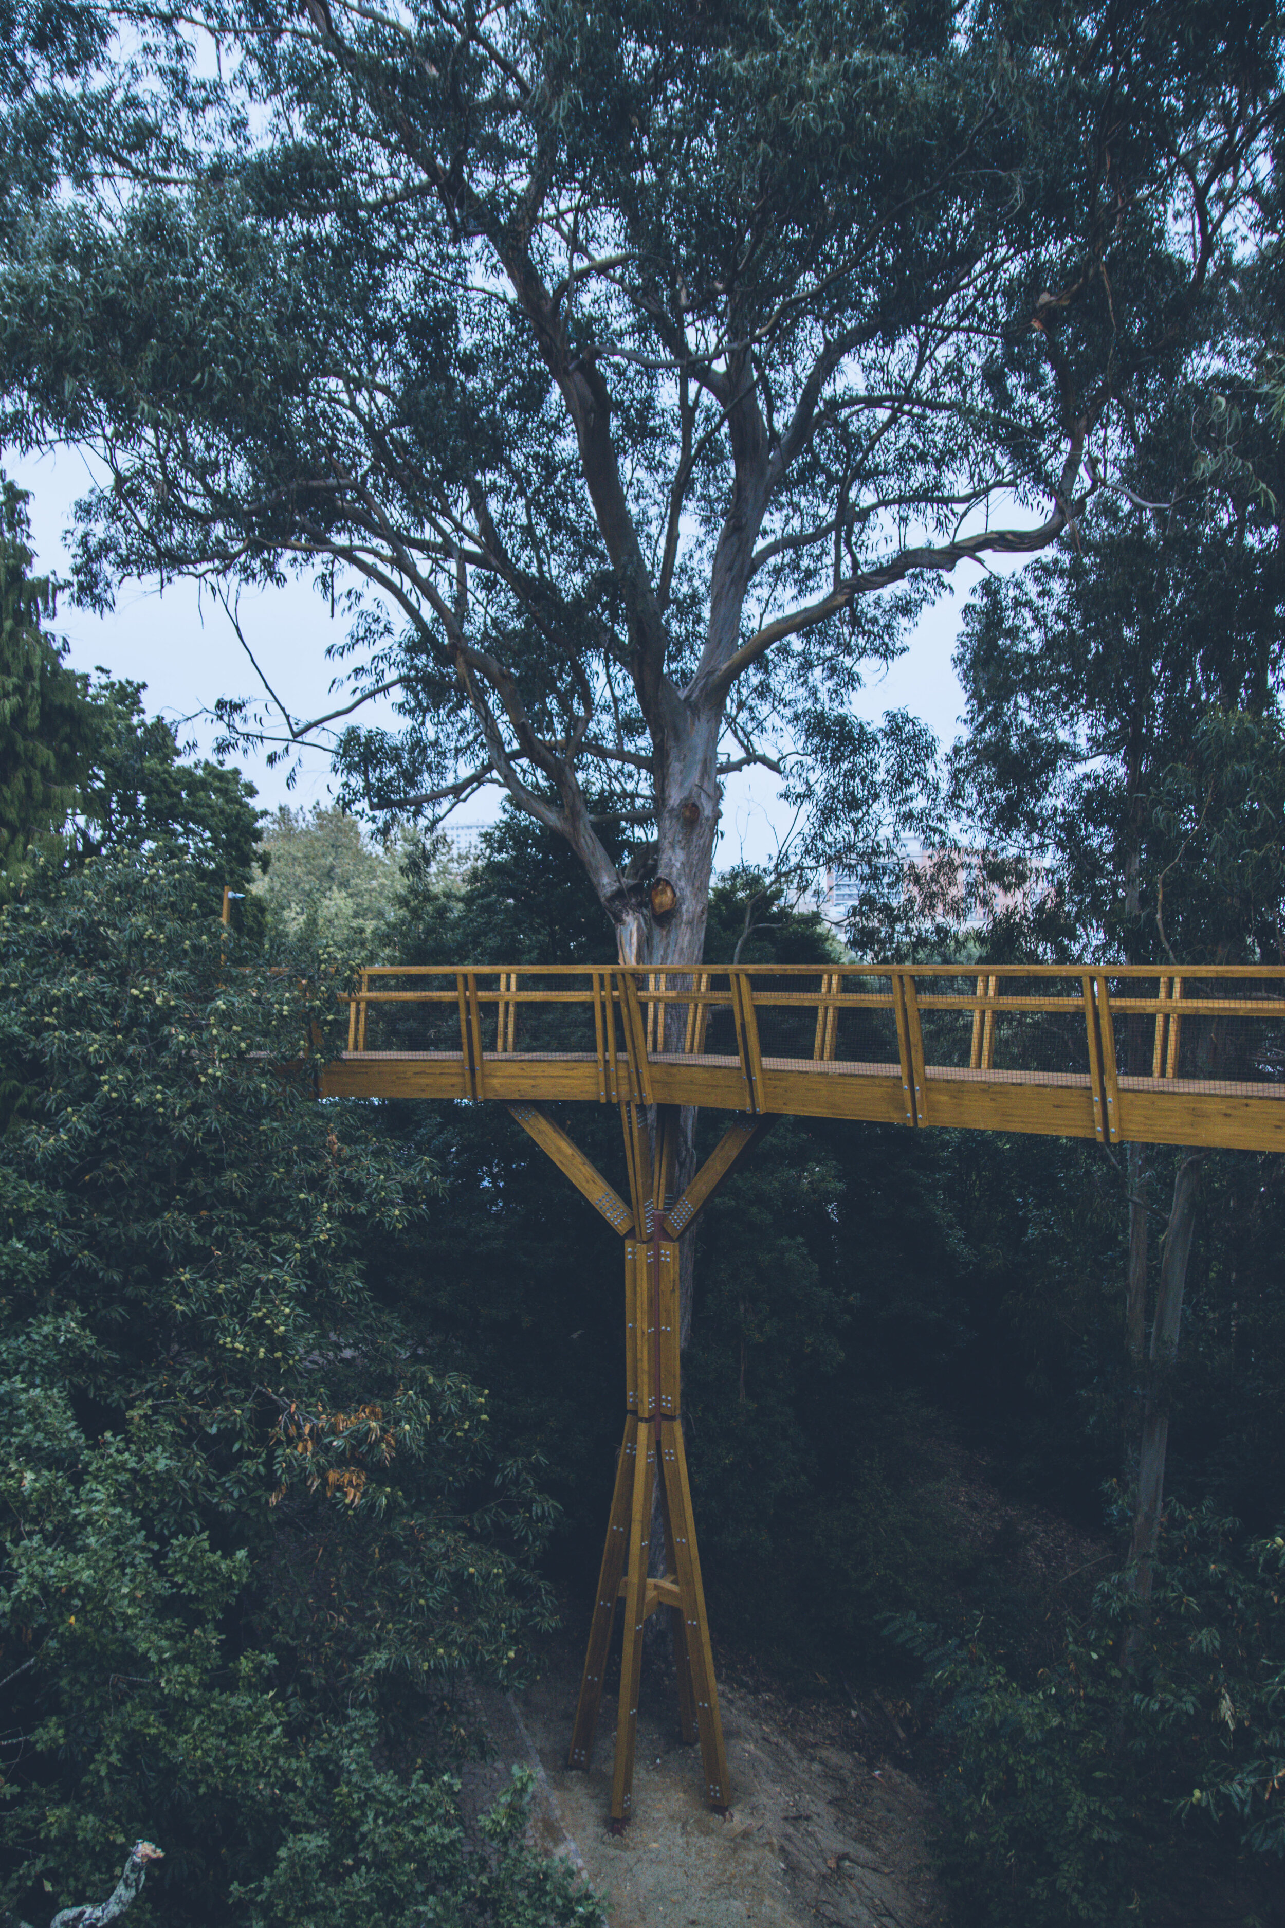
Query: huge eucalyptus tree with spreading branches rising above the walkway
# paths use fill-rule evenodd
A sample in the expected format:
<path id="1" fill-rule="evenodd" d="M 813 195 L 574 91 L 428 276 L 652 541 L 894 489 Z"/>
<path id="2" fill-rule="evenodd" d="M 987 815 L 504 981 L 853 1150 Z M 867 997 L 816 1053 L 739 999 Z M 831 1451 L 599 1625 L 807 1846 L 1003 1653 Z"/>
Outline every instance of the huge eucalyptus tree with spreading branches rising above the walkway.
<path id="1" fill-rule="evenodd" d="M 501 785 L 643 962 L 701 954 L 730 771 L 834 843 L 923 762 L 863 665 L 1081 524 L 1279 118 L 1262 0 L 19 0 L 13 39 L 4 426 L 104 463 L 79 594 L 312 571 L 343 698 L 233 727 L 329 731 L 374 812 Z"/>

